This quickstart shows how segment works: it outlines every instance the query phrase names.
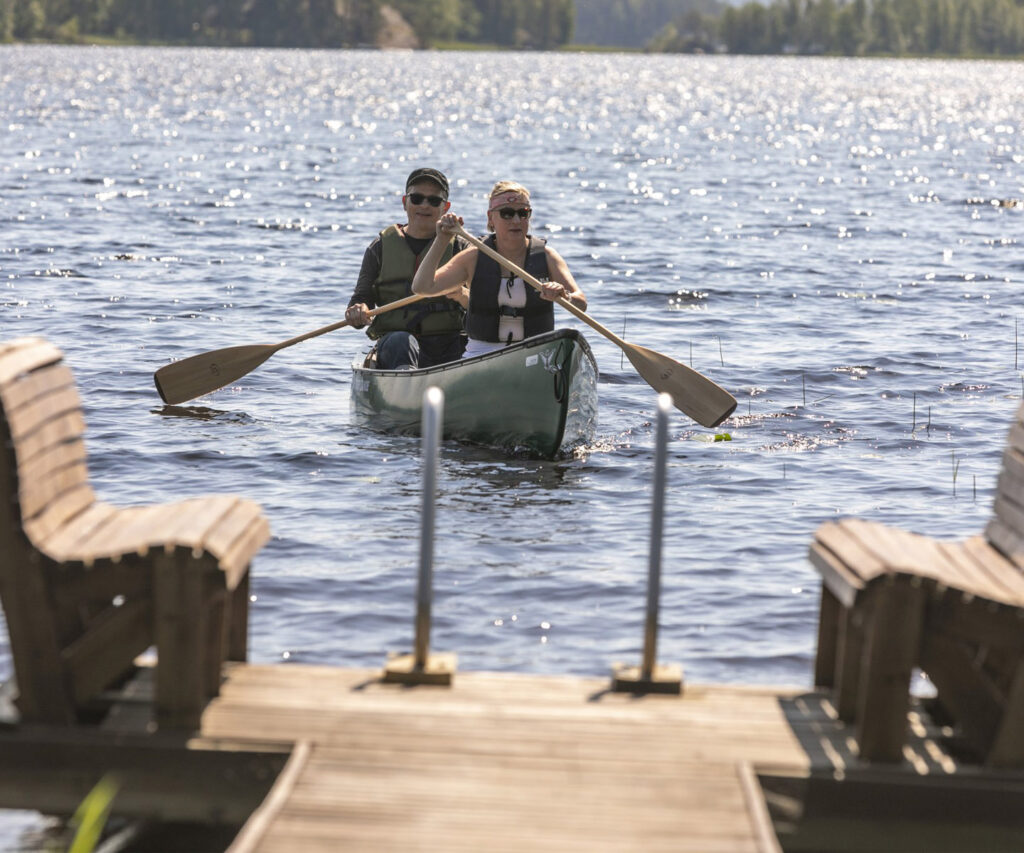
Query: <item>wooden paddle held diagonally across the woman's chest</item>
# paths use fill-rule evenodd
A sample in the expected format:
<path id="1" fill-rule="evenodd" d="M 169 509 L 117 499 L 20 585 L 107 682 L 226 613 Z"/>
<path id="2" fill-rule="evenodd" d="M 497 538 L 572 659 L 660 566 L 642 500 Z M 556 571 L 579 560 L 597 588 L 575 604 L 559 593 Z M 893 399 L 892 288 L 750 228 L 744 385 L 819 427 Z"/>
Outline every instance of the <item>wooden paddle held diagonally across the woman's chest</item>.
<path id="1" fill-rule="evenodd" d="M 506 269 L 514 272 L 526 284 L 537 290 L 542 290 L 541 283 L 530 275 L 525 269 L 512 263 L 508 258 L 496 252 L 485 243 L 477 240 L 461 226 L 456 227 L 456 232 L 479 249 L 483 254 L 489 255 Z M 676 409 L 684 415 L 692 418 L 700 426 L 716 427 L 736 408 L 736 398 L 716 385 L 708 377 L 697 373 L 692 368 L 680 364 L 668 355 L 647 349 L 644 346 L 628 343 L 620 338 L 614 332 L 605 329 L 586 311 L 581 310 L 567 299 L 555 300 L 574 316 L 586 323 L 595 332 L 604 335 L 609 341 L 620 347 L 626 353 L 637 373 L 655 391 L 664 392 L 672 397 Z"/>

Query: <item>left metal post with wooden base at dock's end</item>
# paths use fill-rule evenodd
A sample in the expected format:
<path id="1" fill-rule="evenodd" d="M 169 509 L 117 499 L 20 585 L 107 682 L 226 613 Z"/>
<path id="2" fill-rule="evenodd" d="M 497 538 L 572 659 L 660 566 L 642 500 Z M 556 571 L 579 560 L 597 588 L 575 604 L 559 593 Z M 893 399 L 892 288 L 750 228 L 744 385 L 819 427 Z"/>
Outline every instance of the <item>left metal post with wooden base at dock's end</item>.
<path id="1" fill-rule="evenodd" d="M 384 667 L 384 681 L 401 684 L 450 685 L 456 669 L 453 653 L 430 653 L 430 614 L 433 603 L 434 519 L 437 465 L 440 456 L 444 392 L 431 386 L 423 394 L 420 434 L 423 456 L 423 494 L 420 503 L 420 570 L 416 585 L 416 639 L 412 654 L 391 657 Z"/>

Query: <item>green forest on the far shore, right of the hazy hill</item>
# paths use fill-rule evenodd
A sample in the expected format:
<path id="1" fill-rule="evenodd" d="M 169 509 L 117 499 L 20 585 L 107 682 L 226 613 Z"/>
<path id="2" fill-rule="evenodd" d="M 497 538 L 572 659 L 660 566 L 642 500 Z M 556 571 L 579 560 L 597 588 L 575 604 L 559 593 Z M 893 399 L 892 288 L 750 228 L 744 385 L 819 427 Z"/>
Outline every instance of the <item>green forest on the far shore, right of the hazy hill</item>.
<path id="1" fill-rule="evenodd" d="M 774 0 L 690 12 L 655 51 L 845 56 L 1020 56 L 1024 0 Z"/>

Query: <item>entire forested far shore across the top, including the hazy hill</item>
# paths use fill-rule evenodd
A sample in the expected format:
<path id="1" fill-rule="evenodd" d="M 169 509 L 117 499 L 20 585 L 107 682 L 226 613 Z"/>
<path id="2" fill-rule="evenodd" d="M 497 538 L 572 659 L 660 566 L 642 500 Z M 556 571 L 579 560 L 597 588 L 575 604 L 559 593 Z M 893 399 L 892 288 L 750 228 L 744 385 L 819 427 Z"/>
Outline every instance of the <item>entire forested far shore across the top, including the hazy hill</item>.
<path id="1" fill-rule="evenodd" d="M 1024 55 L 1024 0 L 0 0 L 0 42 L 353 47 L 395 18 L 410 46 Z"/>

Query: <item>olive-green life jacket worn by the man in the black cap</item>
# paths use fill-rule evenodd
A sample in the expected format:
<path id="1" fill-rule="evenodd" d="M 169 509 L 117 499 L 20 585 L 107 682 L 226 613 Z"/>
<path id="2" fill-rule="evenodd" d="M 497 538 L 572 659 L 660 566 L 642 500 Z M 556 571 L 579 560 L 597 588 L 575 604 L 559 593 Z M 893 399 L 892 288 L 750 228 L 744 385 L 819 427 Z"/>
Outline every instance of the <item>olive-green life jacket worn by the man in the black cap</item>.
<path id="1" fill-rule="evenodd" d="M 397 225 L 388 225 L 381 231 L 380 238 L 381 269 L 373 290 L 377 306 L 412 296 L 416 268 L 430 249 L 428 243 L 419 255 L 414 254 Z M 437 265 L 443 266 L 451 258 L 452 245 L 449 244 Z M 446 296 L 437 296 L 378 314 L 367 329 L 367 334 L 374 340 L 388 332 L 412 332 L 418 337 L 451 335 L 462 332 L 465 316 L 466 311 L 458 302 Z"/>

